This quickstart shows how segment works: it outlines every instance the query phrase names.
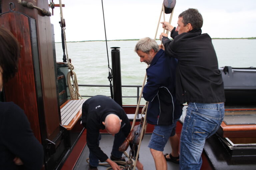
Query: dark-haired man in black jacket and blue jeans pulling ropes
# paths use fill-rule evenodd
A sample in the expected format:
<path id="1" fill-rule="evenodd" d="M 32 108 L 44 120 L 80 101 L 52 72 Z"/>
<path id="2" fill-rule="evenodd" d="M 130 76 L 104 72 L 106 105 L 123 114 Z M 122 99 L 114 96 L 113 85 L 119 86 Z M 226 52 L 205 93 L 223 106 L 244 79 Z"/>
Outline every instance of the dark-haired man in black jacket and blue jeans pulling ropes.
<path id="1" fill-rule="evenodd" d="M 199 170 L 205 139 L 224 118 L 224 85 L 217 56 L 208 34 L 201 34 L 202 15 L 188 9 L 179 15 L 177 28 L 162 22 L 173 40 L 162 33 L 166 54 L 178 59 L 176 96 L 188 103 L 180 138 L 180 169 Z"/>

